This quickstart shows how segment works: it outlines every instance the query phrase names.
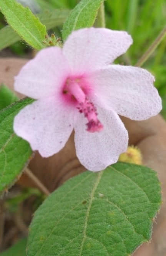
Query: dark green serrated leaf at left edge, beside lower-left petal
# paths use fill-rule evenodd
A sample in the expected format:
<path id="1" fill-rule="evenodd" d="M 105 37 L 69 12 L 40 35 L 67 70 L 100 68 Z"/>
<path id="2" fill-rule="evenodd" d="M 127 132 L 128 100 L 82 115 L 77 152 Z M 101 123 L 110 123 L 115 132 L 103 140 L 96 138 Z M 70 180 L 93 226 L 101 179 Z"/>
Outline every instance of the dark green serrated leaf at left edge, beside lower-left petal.
<path id="1" fill-rule="evenodd" d="M 25 98 L 0 111 L 0 191 L 8 189 L 32 155 L 27 141 L 13 132 L 15 115 L 33 99 Z"/>

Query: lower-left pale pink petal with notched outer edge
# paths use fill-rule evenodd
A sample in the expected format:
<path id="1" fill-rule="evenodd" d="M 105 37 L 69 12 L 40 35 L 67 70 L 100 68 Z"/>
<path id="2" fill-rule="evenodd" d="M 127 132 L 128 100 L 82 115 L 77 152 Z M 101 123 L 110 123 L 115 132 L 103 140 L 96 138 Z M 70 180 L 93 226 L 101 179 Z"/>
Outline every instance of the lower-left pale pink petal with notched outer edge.
<path id="1" fill-rule="evenodd" d="M 42 157 L 50 157 L 65 146 L 74 123 L 74 112 L 48 97 L 23 108 L 14 119 L 15 133 L 38 150 Z"/>

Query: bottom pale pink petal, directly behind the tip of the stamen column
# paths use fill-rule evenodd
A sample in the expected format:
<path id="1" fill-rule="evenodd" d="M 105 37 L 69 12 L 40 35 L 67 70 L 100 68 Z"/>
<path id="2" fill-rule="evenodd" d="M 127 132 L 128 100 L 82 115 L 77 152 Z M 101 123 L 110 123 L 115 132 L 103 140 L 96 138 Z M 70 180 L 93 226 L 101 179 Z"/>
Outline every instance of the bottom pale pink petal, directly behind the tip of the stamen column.
<path id="1" fill-rule="evenodd" d="M 76 155 L 88 170 L 100 171 L 117 162 L 120 153 L 127 149 L 128 132 L 114 111 L 97 109 L 104 128 L 100 132 L 85 130 L 86 120 L 78 114 L 75 122 Z"/>

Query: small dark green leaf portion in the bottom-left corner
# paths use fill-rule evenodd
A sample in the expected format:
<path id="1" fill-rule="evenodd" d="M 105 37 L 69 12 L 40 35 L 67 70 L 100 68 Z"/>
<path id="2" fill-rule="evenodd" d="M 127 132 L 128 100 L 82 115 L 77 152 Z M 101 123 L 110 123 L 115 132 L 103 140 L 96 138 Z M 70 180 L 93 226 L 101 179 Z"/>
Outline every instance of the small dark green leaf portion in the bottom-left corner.
<path id="1" fill-rule="evenodd" d="M 0 256 L 26 256 L 27 238 L 23 238 L 9 249 L 0 253 Z"/>

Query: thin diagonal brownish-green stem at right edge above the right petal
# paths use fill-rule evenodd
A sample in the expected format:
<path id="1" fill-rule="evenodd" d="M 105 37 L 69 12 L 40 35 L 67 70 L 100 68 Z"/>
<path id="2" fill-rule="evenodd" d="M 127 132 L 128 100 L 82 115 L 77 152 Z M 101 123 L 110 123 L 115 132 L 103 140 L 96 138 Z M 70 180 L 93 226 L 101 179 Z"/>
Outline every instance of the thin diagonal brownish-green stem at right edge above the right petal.
<path id="1" fill-rule="evenodd" d="M 154 52 L 156 47 L 159 45 L 159 43 L 163 40 L 163 38 L 166 35 L 166 26 L 164 29 L 160 32 L 158 37 L 154 40 L 154 42 L 150 45 L 148 50 L 143 54 L 143 56 L 139 59 L 139 61 L 135 64 L 136 67 L 141 67 L 144 62 L 151 56 L 151 54 Z"/>

